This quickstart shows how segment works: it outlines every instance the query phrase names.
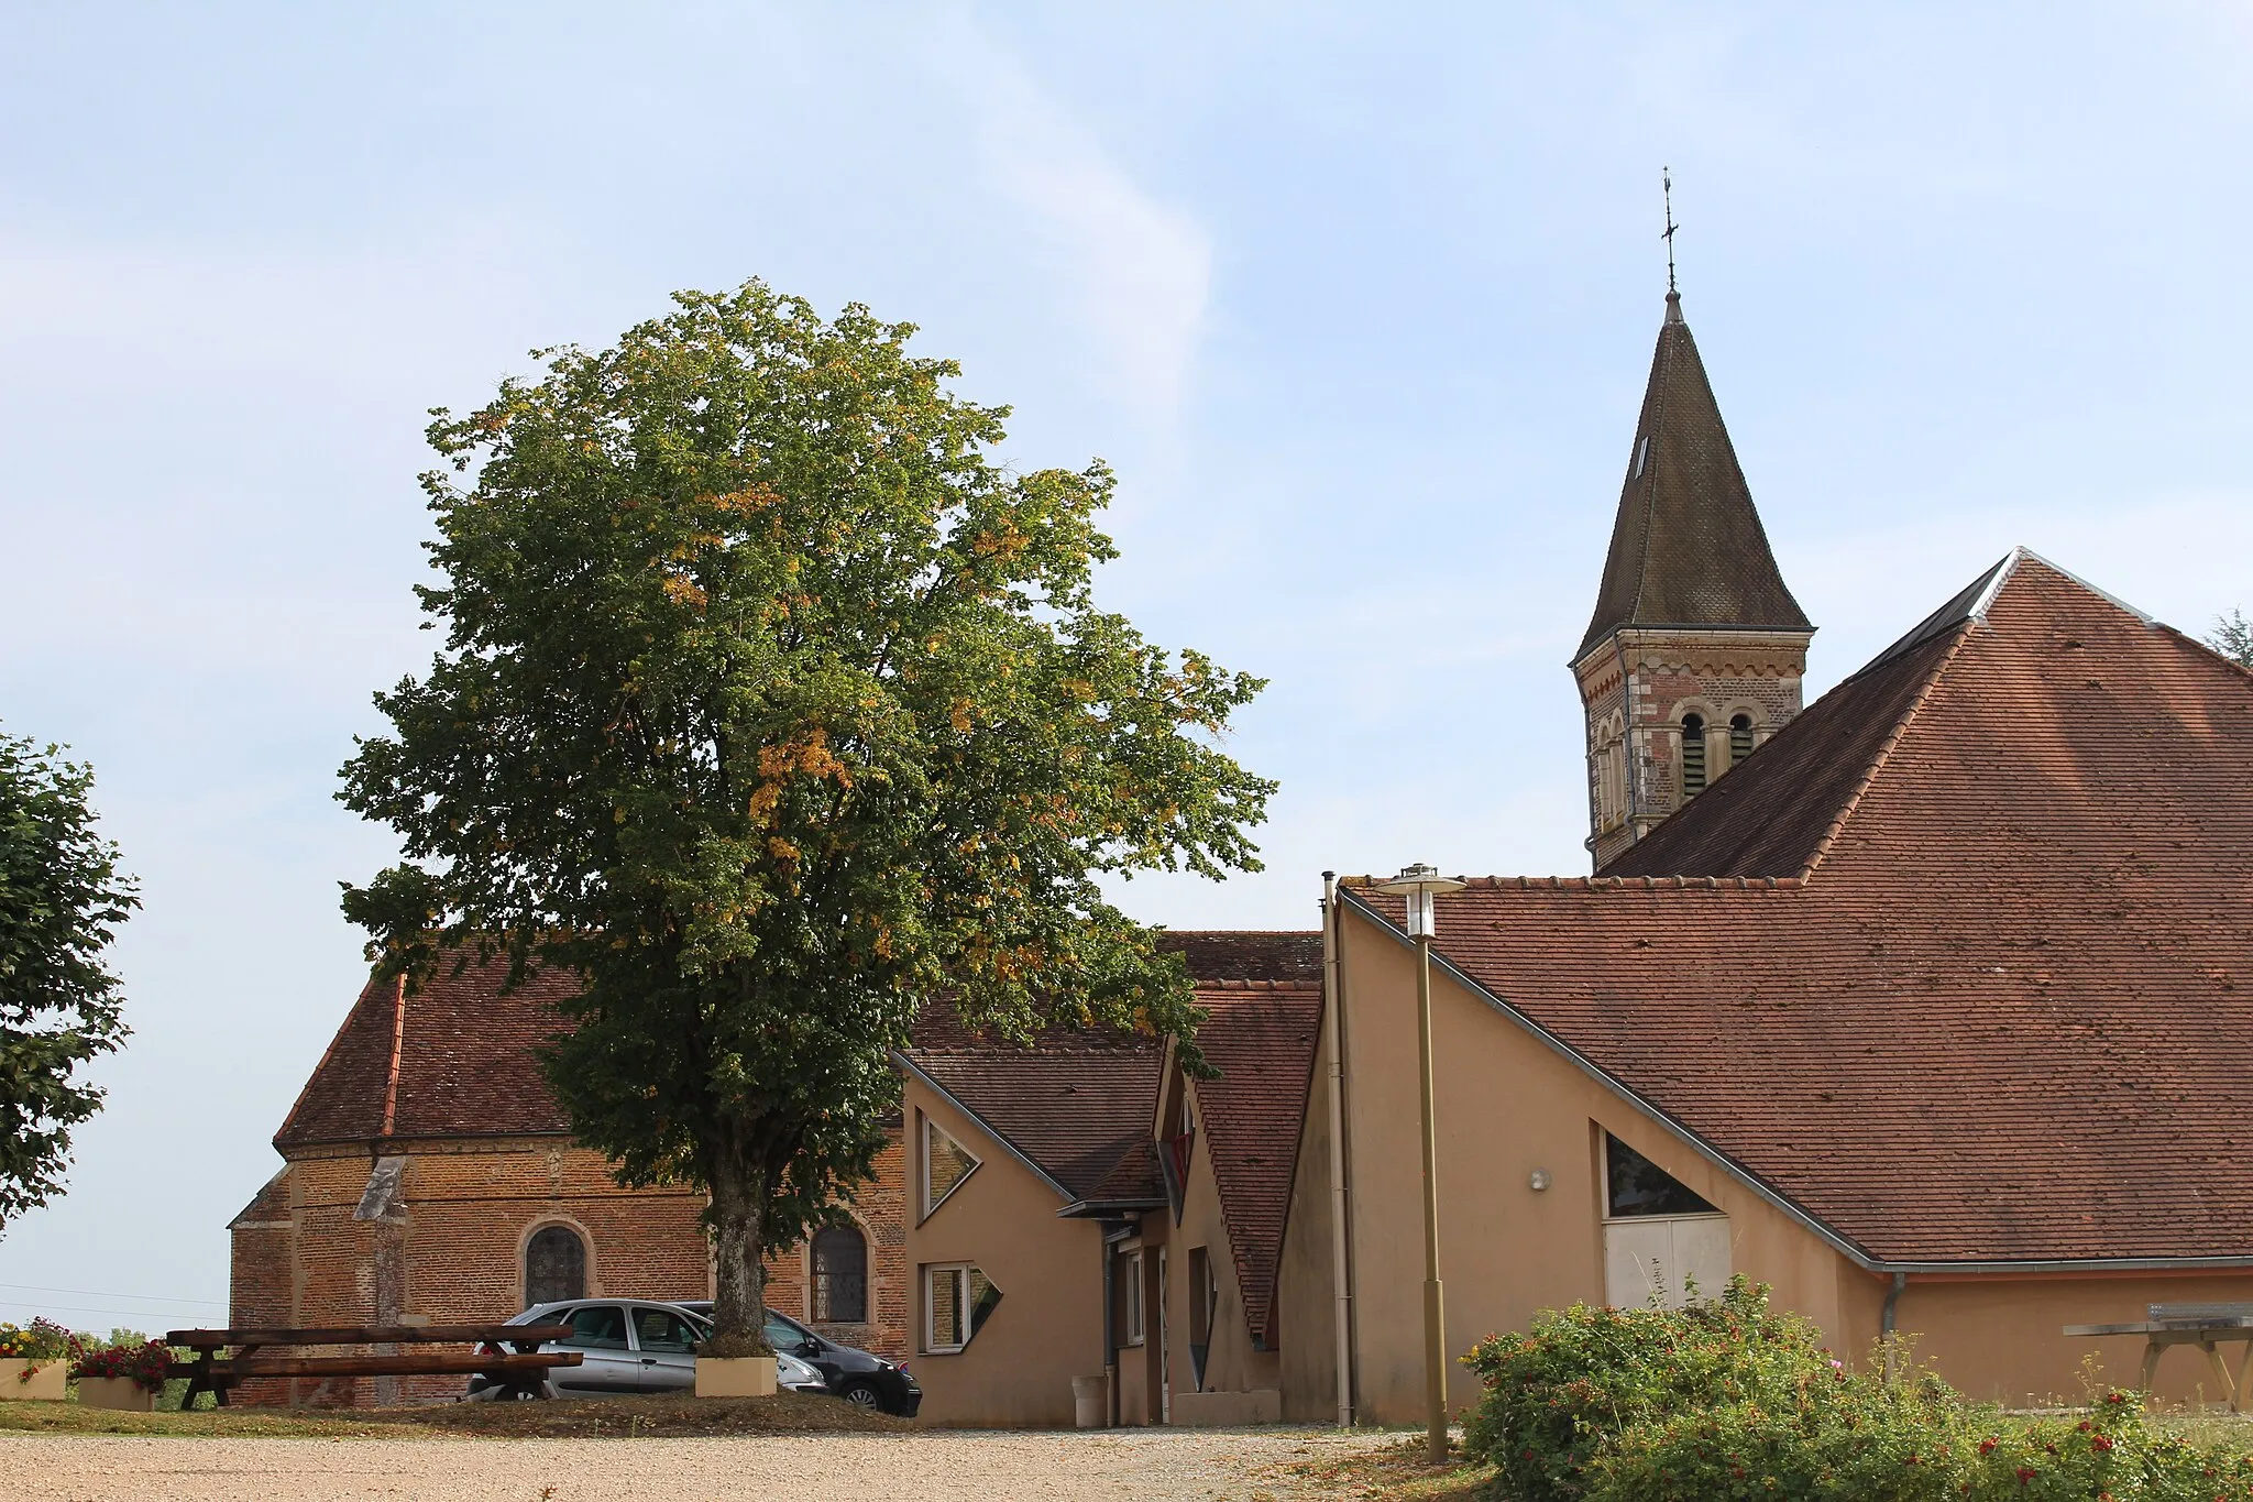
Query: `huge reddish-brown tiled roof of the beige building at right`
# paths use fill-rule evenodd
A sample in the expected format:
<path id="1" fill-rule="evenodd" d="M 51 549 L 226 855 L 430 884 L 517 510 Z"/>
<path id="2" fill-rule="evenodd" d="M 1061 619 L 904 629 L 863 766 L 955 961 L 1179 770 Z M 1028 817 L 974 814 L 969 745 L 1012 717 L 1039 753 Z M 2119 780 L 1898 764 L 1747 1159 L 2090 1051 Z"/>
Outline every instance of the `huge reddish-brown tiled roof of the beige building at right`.
<path id="1" fill-rule="evenodd" d="M 1809 709 L 1674 874 L 1473 883 L 1437 946 L 1870 1259 L 2253 1259 L 2253 676 L 2030 554 L 1985 594 L 1856 680 L 1884 745 Z M 1796 757 L 1838 802 L 1775 880 Z"/>

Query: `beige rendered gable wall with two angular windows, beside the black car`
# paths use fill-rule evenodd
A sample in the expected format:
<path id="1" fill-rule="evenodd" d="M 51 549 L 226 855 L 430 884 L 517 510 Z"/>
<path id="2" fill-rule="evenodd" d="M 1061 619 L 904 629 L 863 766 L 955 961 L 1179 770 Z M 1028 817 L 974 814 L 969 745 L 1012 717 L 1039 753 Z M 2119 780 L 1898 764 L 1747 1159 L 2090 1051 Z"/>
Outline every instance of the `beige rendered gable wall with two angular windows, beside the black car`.
<path id="1" fill-rule="evenodd" d="M 1059 1221 L 1063 1200 L 985 1128 L 917 1079 L 906 1081 L 910 1369 L 926 1423 L 1070 1428 L 1072 1378 L 1104 1369 L 1102 1232 Z M 919 1115 L 980 1157 L 980 1166 L 921 1214 Z M 928 1263 L 969 1261 L 1000 1288 L 1000 1304 L 955 1353 L 924 1349 Z"/>

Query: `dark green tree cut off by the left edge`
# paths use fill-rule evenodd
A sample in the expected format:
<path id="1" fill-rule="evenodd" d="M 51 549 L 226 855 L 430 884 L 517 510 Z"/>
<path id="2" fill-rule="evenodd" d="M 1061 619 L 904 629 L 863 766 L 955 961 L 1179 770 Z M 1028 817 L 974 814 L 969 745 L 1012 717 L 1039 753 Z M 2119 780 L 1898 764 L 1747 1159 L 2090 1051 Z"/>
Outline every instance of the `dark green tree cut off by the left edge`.
<path id="1" fill-rule="evenodd" d="M 101 1108 L 79 1065 L 128 1031 L 104 950 L 140 896 L 92 786 L 61 748 L 0 734 L 0 1225 L 61 1193 L 70 1128 Z"/>

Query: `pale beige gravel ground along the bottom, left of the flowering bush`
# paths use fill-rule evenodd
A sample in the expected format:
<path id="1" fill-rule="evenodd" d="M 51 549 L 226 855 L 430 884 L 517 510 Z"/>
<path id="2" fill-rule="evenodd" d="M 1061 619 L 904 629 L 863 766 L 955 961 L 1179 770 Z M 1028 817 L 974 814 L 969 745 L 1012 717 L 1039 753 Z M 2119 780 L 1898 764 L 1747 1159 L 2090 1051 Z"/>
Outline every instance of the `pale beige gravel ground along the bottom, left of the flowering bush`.
<path id="1" fill-rule="evenodd" d="M 1136 1502 L 1325 1495 L 1295 1473 L 1386 1443 L 1325 1430 L 825 1434 L 759 1439 L 126 1439 L 0 1434 L 23 1502 Z"/>

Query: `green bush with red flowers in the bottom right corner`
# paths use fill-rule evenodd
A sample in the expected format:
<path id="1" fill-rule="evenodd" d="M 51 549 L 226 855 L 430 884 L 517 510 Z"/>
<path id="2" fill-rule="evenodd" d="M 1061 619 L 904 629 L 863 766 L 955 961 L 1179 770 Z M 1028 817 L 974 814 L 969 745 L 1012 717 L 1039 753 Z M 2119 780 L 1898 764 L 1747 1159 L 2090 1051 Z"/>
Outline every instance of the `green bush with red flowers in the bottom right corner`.
<path id="1" fill-rule="evenodd" d="M 1742 1277 L 1683 1311 L 1575 1306 L 1471 1351 L 1467 1450 L 1516 1502 L 2253 1497 L 2253 1459 L 2154 1430 L 2134 1394 L 2014 1419 L 1890 1356 L 1845 1367 Z"/>

